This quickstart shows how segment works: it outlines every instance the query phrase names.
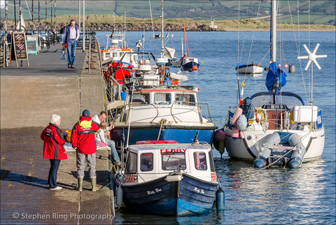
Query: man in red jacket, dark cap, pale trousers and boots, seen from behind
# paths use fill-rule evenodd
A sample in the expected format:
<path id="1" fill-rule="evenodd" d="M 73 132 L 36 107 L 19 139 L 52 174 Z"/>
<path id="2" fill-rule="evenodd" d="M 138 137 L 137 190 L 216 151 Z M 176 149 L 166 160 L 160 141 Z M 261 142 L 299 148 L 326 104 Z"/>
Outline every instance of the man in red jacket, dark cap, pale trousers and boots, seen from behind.
<path id="1" fill-rule="evenodd" d="M 89 110 L 84 110 L 82 116 L 79 118 L 79 122 L 73 126 L 71 144 L 76 150 L 78 191 L 82 191 L 85 158 L 87 160 L 87 167 L 89 168 L 92 191 L 97 191 L 96 143 L 94 132 L 97 132 L 99 129 L 100 127 L 95 122 L 92 122 Z"/>

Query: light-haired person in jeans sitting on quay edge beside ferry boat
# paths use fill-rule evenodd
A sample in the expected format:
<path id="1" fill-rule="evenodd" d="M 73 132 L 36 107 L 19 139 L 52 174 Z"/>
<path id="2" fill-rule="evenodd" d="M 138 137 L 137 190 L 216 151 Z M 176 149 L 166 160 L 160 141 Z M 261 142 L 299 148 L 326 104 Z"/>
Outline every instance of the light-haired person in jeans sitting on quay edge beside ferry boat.
<path id="1" fill-rule="evenodd" d="M 106 119 L 106 117 L 107 117 L 107 113 L 105 111 L 102 111 L 98 115 L 94 115 L 94 117 L 92 117 L 92 121 L 97 123 L 100 126 L 101 122 L 103 122 Z M 114 125 L 111 124 L 110 126 L 106 127 L 106 130 L 103 129 L 102 130 L 102 132 L 104 132 L 103 137 L 110 136 L 109 130 L 113 128 L 114 128 Z M 106 145 L 111 148 L 111 156 L 112 156 L 113 163 L 116 163 L 118 166 L 121 166 L 120 157 L 118 156 L 118 152 L 116 150 L 116 143 L 114 143 L 114 141 L 111 139 L 105 139 L 105 138 L 104 138 L 104 142 L 106 142 Z"/>

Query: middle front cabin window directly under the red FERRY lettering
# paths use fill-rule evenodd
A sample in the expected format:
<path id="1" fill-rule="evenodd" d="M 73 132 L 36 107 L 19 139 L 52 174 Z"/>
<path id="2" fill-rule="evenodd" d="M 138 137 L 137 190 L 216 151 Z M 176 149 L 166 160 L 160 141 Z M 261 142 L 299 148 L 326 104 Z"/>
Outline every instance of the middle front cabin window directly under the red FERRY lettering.
<path id="1" fill-rule="evenodd" d="M 186 155 L 184 152 L 162 152 L 162 170 L 186 169 Z"/>

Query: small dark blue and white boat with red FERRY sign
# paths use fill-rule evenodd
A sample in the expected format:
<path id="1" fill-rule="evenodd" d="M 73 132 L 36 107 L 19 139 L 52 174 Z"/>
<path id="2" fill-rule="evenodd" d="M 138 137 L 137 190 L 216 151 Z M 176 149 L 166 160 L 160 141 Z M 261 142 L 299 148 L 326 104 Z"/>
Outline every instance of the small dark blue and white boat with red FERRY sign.
<path id="1" fill-rule="evenodd" d="M 126 210 L 176 217 L 209 212 L 220 185 L 211 145 L 169 140 L 130 145 L 123 178 Z"/>

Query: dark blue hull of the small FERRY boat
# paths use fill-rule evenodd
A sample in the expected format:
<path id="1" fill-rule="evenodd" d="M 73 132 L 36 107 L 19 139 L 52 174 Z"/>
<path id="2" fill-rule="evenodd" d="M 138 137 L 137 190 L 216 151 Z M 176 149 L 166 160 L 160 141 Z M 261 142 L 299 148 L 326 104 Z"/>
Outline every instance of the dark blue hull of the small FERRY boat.
<path id="1" fill-rule="evenodd" d="M 183 216 L 209 212 L 218 182 L 205 182 L 190 175 L 181 181 L 167 182 L 165 177 L 142 184 L 122 184 L 128 210 L 155 215 Z"/>

